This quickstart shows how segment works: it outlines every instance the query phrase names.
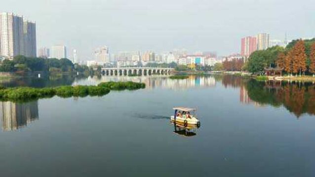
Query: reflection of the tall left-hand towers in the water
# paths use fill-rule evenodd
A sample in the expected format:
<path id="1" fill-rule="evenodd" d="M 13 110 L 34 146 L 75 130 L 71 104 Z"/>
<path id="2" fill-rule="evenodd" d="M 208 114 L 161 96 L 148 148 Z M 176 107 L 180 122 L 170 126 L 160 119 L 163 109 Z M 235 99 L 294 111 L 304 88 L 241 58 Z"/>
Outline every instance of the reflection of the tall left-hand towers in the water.
<path id="1" fill-rule="evenodd" d="M 39 119 L 38 102 L 0 102 L 2 131 L 14 131 Z"/>

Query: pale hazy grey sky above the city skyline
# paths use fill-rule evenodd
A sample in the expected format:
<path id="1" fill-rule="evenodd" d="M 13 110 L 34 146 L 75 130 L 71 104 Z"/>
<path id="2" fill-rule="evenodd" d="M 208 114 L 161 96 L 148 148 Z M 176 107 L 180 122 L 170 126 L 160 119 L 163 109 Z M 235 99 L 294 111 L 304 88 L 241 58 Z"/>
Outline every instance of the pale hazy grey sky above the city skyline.
<path id="1" fill-rule="evenodd" d="M 64 44 L 83 59 L 102 45 L 228 55 L 258 32 L 315 36 L 315 0 L 1 0 L 0 11 L 36 21 L 38 48 Z"/>

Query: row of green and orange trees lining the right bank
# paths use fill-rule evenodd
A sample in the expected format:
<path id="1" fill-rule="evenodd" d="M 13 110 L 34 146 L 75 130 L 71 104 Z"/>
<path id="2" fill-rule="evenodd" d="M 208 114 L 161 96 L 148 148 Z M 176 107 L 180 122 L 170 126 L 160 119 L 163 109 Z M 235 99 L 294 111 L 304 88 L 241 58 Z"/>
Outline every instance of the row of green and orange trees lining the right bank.
<path id="1" fill-rule="evenodd" d="M 266 67 L 282 68 L 289 75 L 315 74 L 315 38 L 293 40 L 285 48 L 274 46 L 255 51 L 243 68 L 263 72 Z"/>

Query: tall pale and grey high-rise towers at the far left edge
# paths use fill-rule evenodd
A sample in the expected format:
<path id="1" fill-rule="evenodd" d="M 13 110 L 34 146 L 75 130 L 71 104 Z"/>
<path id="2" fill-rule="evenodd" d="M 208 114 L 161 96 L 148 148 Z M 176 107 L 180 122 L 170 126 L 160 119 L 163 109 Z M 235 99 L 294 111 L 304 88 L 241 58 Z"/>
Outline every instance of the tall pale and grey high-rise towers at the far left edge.
<path id="1" fill-rule="evenodd" d="M 23 16 L 0 13 L 0 56 L 36 57 L 36 24 Z"/>

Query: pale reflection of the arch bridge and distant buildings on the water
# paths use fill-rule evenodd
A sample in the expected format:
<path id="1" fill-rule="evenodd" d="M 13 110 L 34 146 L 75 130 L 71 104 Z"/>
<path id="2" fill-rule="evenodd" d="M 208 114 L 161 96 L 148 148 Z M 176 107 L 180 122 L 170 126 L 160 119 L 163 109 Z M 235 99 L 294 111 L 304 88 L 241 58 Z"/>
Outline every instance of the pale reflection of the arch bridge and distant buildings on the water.
<path id="1" fill-rule="evenodd" d="M 166 76 L 104 76 L 104 77 L 89 77 L 84 81 L 76 81 L 73 85 L 97 85 L 101 82 L 109 81 L 132 81 L 145 83 L 146 89 L 164 88 L 164 89 L 188 89 L 194 87 L 215 87 L 215 78 L 212 76 L 189 76 L 188 79 L 169 79 Z"/>

